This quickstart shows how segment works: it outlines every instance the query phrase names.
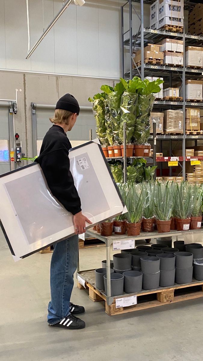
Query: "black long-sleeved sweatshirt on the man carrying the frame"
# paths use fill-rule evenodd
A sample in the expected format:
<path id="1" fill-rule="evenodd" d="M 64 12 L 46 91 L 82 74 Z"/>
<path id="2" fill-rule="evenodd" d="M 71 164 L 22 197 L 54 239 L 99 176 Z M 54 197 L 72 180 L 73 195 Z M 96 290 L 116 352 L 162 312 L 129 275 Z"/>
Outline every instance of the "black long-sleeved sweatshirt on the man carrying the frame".
<path id="1" fill-rule="evenodd" d="M 59 202 L 72 214 L 81 211 L 81 201 L 70 172 L 69 149 L 72 148 L 62 127 L 53 125 L 44 136 L 36 162 Z"/>

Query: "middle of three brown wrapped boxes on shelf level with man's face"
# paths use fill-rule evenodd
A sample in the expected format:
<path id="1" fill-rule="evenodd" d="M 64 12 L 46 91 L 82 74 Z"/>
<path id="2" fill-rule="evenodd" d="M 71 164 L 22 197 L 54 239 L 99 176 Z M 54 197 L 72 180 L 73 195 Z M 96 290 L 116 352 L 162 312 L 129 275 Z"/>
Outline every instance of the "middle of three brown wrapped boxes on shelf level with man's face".
<path id="1" fill-rule="evenodd" d="M 164 110 L 164 133 L 183 132 L 183 112 L 182 110 Z"/>

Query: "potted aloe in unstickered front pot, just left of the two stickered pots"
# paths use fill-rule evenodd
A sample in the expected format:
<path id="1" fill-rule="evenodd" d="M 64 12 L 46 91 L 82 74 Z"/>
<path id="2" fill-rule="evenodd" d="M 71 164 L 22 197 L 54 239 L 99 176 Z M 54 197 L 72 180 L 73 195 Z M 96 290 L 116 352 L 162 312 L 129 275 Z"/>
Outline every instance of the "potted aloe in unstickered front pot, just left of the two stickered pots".
<path id="1" fill-rule="evenodd" d="M 172 194 L 169 182 L 155 184 L 153 205 L 158 232 L 169 232 L 172 212 Z"/>

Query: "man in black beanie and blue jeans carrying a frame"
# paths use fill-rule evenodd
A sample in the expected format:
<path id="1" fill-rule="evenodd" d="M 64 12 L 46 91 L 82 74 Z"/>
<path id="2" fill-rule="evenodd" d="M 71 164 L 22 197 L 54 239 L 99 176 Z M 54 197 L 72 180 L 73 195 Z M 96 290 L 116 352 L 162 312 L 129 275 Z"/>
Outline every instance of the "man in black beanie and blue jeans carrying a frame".
<path id="1" fill-rule="evenodd" d="M 65 94 L 56 104 L 54 123 L 44 136 L 40 155 L 36 162 L 41 166 L 47 184 L 64 207 L 73 214 L 75 235 L 54 246 L 50 269 L 51 301 L 48 305 L 48 324 L 66 330 L 78 330 L 85 322 L 75 314 L 85 312 L 83 306 L 70 303 L 73 289 L 73 274 L 77 268 L 78 234 L 85 232 L 81 201 L 70 173 L 69 149 L 72 148 L 66 132 L 70 131 L 79 114 L 79 105 L 73 95 Z"/>

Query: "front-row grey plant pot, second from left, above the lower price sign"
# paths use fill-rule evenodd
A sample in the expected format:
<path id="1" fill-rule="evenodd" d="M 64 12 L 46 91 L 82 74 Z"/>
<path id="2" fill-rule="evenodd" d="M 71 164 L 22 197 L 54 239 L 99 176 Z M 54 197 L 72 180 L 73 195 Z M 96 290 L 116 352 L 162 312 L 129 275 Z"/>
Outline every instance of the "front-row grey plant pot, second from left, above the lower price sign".
<path id="1" fill-rule="evenodd" d="M 124 291 L 126 293 L 142 291 L 142 272 L 127 271 L 124 275 Z"/>

